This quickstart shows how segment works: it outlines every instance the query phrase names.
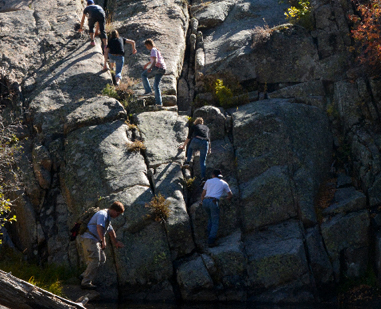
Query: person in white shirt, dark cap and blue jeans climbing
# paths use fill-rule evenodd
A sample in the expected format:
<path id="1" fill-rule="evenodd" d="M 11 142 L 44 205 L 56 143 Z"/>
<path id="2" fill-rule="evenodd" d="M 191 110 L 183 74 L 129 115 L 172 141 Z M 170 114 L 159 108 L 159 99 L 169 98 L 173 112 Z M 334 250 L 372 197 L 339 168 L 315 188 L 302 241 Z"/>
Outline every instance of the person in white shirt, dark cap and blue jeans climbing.
<path id="1" fill-rule="evenodd" d="M 214 247 L 217 238 L 218 225 L 220 222 L 219 200 L 222 195 L 227 194 L 227 200 L 230 201 L 233 193 L 228 183 L 222 180 L 223 176 L 220 170 L 214 170 L 212 178 L 208 179 L 201 193 L 202 207 L 208 214 L 208 245 Z"/>

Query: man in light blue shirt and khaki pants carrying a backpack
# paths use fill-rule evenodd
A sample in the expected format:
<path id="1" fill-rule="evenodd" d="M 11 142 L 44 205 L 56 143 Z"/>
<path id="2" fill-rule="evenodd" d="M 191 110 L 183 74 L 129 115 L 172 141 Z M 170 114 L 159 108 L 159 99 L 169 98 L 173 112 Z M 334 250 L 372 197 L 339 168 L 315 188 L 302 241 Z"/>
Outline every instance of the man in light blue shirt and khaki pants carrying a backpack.
<path id="1" fill-rule="evenodd" d="M 81 243 L 86 260 L 86 270 L 82 273 L 81 287 L 93 290 L 96 285 L 93 281 L 98 273 L 99 266 L 106 263 L 106 233 L 110 235 L 111 242 L 115 248 L 124 245 L 116 240 L 116 233 L 111 225 L 111 218 L 117 218 L 124 212 L 121 202 L 114 202 L 108 209 L 96 212 L 87 224 L 87 231 L 82 235 Z"/>

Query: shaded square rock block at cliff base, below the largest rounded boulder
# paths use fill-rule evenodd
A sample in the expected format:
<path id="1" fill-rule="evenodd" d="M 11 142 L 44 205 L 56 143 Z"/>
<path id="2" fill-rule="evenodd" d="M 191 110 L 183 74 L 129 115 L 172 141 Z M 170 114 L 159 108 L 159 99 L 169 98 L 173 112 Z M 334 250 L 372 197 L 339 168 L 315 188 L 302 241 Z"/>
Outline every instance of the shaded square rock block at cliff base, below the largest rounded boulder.
<path id="1" fill-rule="evenodd" d="M 278 298 L 285 288 L 293 291 L 286 293 L 291 298 L 312 290 L 303 238 L 297 221 L 285 221 L 246 235 L 249 299 L 259 299 L 263 289 L 264 298 L 270 291 Z M 311 293 L 309 299 L 313 299 Z"/>

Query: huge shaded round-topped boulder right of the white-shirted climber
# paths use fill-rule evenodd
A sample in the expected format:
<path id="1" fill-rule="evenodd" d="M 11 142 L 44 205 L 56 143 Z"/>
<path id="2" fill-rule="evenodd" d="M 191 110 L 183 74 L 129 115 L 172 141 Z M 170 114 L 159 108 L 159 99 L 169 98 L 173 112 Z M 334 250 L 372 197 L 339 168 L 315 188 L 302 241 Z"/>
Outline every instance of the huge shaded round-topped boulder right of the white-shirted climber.
<path id="1" fill-rule="evenodd" d="M 305 224 L 315 223 L 314 199 L 331 159 L 326 115 L 272 99 L 232 110 L 232 117 L 245 228 L 274 224 L 299 211 Z"/>

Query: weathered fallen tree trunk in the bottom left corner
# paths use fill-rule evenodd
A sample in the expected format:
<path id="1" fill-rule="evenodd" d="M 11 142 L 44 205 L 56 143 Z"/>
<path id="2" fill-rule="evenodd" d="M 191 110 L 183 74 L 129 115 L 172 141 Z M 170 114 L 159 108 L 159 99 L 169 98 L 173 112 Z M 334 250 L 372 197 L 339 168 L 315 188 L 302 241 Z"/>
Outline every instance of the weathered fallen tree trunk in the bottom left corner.
<path id="1" fill-rule="evenodd" d="M 0 270 L 0 308 L 10 309 L 85 309 L 24 280 Z"/>

